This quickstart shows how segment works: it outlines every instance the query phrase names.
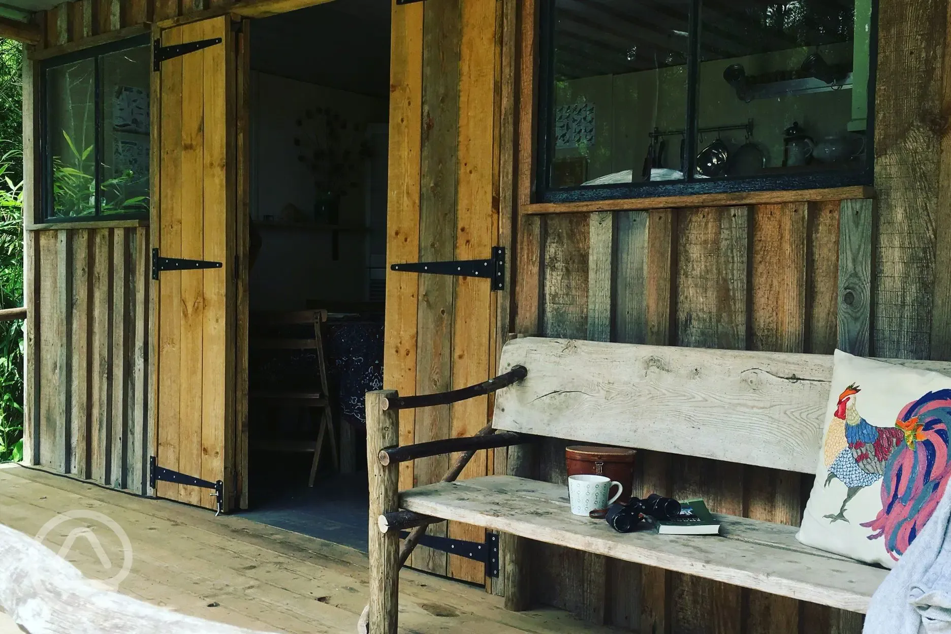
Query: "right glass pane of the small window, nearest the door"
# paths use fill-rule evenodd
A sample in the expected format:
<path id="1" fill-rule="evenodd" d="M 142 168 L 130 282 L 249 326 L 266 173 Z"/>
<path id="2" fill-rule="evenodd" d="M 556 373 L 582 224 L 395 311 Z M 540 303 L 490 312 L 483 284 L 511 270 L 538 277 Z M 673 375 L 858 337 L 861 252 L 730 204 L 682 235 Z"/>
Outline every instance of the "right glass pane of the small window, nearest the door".
<path id="1" fill-rule="evenodd" d="M 100 58 L 103 214 L 148 211 L 149 59 L 147 46 Z"/>

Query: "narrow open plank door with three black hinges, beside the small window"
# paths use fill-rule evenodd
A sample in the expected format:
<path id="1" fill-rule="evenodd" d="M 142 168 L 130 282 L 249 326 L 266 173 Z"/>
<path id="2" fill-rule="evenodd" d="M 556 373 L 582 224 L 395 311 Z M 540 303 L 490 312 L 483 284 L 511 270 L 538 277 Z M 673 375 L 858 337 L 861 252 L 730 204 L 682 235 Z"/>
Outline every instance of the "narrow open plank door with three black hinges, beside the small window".
<path id="1" fill-rule="evenodd" d="M 235 490 L 235 34 L 224 16 L 160 37 L 152 99 L 154 492 L 214 509 L 215 490 L 187 478 L 220 481 L 227 510 Z"/>

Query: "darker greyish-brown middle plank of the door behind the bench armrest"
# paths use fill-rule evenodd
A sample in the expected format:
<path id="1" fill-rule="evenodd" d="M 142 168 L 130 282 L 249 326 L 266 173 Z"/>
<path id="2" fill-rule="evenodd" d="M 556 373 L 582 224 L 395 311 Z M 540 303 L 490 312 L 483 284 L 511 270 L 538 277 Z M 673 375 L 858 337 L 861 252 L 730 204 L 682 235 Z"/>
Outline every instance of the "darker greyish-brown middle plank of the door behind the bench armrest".
<path id="1" fill-rule="evenodd" d="M 459 59 L 461 1 L 423 3 L 422 143 L 420 155 L 418 261 L 456 259 L 456 205 L 459 166 Z M 417 277 L 417 274 L 405 274 Z M 453 380 L 453 326 L 456 281 L 449 276 L 418 276 L 416 394 L 445 392 Z M 425 408 L 416 415 L 416 441 L 449 437 L 452 407 Z M 417 460 L 414 485 L 437 482 L 449 468 L 448 456 Z M 430 534 L 444 535 L 445 524 Z M 447 555 L 417 548 L 413 566 L 448 574 Z"/>

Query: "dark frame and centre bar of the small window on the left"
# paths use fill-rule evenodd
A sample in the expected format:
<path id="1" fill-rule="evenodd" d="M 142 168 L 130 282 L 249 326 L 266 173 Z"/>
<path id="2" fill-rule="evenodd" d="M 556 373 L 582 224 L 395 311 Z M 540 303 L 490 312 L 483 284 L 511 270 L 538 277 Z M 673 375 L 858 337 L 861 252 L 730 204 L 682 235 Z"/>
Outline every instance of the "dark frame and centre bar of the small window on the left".
<path id="1" fill-rule="evenodd" d="M 39 205 L 37 208 L 37 218 L 34 218 L 33 221 L 36 224 L 62 224 L 62 223 L 73 223 L 73 222 L 98 222 L 102 224 L 103 222 L 110 221 L 148 221 L 150 215 L 150 209 L 145 211 L 137 212 L 128 212 L 128 213 L 117 213 L 117 214 L 103 214 L 102 209 L 102 197 L 96 196 L 96 212 L 88 216 L 55 216 L 52 215 L 54 206 L 53 206 L 53 157 L 52 152 L 50 151 L 50 137 L 51 128 L 49 125 L 49 86 L 47 81 L 47 71 L 50 68 L 62 67 L 68 64 L 75 64 L 76 62 L 82 62 L 84 60 L 91 59 L 93 60 L 94 65 L 94 79 L 95 86 L 93 88 L 93 99 L 95 100 L 94 104 L 94 116 L 93 116 L 93 134 L 94 134 L 94 150 L 93 150 L 93 163 L 95 168 L 95 183 L 96 183 L 96 192 L 98 194 L 100 185 L 103 181 L 103 143 L 105 142 L 105 127 L 103 123 L 104 117 L 104 103 L 103 103 L 103 94 L 102 94 L 102 76 L 100 75 L 101 62 L 100 57 L 107 55 L 109 53 L 118 52 L 121 50 L 126 50 L 128 48 L 142 48 L 150 47 L 152 44 L 151 36 L 148 33 L 143 33 L 141 35 L 135 35 L 132 37 L 127 37 L 115 42 L 109 42 L 107 44 L 83 48 L 75 52 L 67 53 L 65 55 L 57 55 L 55 57 L 49 57 L 47 59 L 41 60 L 39 62 L 39 86 L 38 86 L 38 101 L 39 101 L 39 134 L 37 135 L 38 144 L 39 144 L 39 160 L 41 165 L 41 174 L 42 178 L 40 179 L 41 191 L 39 195 Z M 148 68 L 151 72 L 151 67 Z M 151 110 L 152 104 L 149 104 L 149 110 Z M 149 115 L 151 116 L 151 115 Z M 151 131 L 149 131 L 149 146 L 154 140 L 151 138 Z M 154 192 L 151 191 L 151 181 L 149 181 L 149 191 L 148 191 L 148 204 L 151 206 L 151 200 Z"/>

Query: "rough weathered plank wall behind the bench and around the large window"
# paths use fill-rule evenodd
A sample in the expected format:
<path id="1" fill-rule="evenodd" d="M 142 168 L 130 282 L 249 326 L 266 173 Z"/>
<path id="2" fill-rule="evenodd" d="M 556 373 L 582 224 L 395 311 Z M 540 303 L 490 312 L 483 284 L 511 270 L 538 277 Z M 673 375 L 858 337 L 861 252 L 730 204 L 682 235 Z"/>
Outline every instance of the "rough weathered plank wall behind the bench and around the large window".
<path id="1" fill-rule="evenodd" d="M 875 200 L 518 216 L 514 330 L 544 336 L 951 358 L 951 22 L 881 0 Z M 521 69 L 533 73 L 530 11 Z M 526 28 L 525 25 L 528 25 Z M 943 77 L 943 81 L 935 78 Z M 531 82 L 515 136 L 531 151 Z M 522 156 L 521 205 L 532 161 Z M 788 199 L 786 199 L 788 200 Z M 589 205 L 593 206 L 593 205 Z M 766 441 L 766 440 L 765 440 Z M 563 442 L 535 475 L 566 482 Z M 641 451 L 643 492 L 798 525 L 812 477 Z M 532 546 L 535 601 L 650 633 L 858 633 L 859 614 L 588 553 Z"/>

